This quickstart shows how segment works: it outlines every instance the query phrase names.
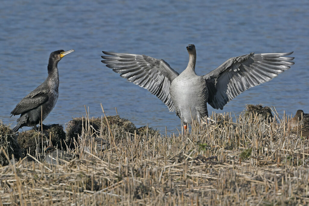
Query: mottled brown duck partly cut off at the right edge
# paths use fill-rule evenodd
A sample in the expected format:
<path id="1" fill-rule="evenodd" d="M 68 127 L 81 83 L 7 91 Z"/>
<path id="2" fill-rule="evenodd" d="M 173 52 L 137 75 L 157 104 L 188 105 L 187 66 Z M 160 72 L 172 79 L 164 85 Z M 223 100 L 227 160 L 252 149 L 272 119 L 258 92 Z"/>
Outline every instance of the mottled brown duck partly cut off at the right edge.
<path id="1" fill-rule="evenodd" d="M 302 119 L 303 117 L 303 119 Z M 302 131 L 302 136 L 309 136 L 309 114 L 304 113 L 303 110 L 297 110 L 293 118 L 291 118 L 291 132 L 300 135 Z"/>

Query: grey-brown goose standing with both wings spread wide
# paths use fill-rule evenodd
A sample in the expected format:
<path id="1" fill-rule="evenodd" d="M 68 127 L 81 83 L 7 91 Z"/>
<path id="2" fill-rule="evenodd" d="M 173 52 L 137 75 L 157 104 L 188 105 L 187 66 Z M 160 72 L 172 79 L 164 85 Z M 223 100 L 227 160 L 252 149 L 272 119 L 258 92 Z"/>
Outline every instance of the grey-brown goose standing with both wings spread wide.
<path id="1" fill-rule="evenodd" d="M 170 111 L 176 110 L 187 128 L 192 118 L 201 122 L 208 116 L 209 103 L 215 109 L 223 109 L 229 101 L 252 86 L 267 82 L 289 69 L 294 57 L 290 53 L 250 53 L 232 57 L 210 73 L 195 73 L 196 50 L 194 44 L 187 47 L 189 63 L 178 74 L 164 60 L 146 55 L 104 52 L 102 62 L 122 78 L 137 84 L 156 95 Z M 192 116 L 191 116 L 192 115 Z"/>

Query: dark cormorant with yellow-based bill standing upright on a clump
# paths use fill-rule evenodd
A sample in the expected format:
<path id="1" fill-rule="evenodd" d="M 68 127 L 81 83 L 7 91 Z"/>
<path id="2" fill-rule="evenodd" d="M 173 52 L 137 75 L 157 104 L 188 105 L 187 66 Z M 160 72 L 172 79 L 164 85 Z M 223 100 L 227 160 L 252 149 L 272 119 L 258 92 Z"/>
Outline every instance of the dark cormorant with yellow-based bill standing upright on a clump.
<path id="1" fill-rule="evenodd" d="M 12 129 L 14 132 L 23 126 L 36 127 L 53 110 L 58 99 L 59 74 L 57 65 L 62 57 L 71 52 L 74 52 L 74 49 L 69 51 L 58 50 L 50 54 L 46 80 L 25 96 L 11 111 L 11 116 L 20 115 L 17 125 Z"/>

